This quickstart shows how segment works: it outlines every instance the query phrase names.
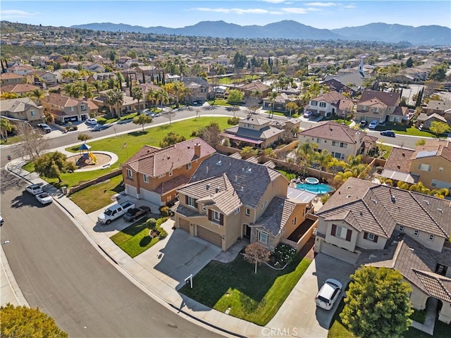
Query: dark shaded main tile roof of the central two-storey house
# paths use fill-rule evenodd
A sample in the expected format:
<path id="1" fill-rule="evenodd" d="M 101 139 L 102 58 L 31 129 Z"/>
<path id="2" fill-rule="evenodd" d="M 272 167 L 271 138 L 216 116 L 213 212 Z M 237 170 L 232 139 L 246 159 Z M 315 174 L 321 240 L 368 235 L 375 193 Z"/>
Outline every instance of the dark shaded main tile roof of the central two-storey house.
<path id="1" fill-rule="evenodd" d="M 239 158 L 214 154 L 202 161 L 190 183 L 203 181 L 211 177 L 226 175 L 228 182 L 237 193 L 242 204 L 256 208 L 268 187 L 281 174 L 266 165 L 248 162 Z M 203 184 L 206 187 L 206 184 Z M 287 180 L 288 187 L 288 180 Z M 231 188 L 230 188 L 231 189 Z"/>

